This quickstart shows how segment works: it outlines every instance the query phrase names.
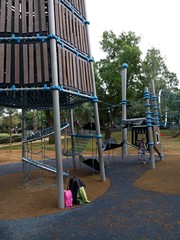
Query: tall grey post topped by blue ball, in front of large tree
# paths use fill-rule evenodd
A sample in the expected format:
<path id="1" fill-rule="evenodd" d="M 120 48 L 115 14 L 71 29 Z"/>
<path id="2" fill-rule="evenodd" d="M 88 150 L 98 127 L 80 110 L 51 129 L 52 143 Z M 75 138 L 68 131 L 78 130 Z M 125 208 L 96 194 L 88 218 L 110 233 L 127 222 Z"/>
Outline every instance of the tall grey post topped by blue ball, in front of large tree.
<path id="1" fill-rule="evenodd" d="M 122 122 L 127 119 L 127 112 L 126 112 L 126 105 L 127 105 L 127 100 L 126 100 L 126 85 L 127 85 L 127 69 L 128 69 L 128 64 L 124 63 L 122 65 Z M 127 139 L 127 128 L 122 129 L 122 141 Z M 122 161 L 124 161 L 124 156 L 127 154 L 127 143 L 126 141 L 124 142 L 122 149 L 121 149 L 121 157 Z"/>

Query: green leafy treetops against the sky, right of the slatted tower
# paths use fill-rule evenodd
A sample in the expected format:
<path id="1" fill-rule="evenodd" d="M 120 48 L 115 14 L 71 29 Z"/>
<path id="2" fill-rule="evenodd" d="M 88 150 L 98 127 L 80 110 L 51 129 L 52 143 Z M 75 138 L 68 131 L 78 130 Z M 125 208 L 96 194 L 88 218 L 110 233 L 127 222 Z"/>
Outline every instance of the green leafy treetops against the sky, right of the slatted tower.
<path id="1" fill-rule="evenodd" d="M 111 109 L 113 122 L 121 118 L 121 108 L 118 106 L 122 99 L 121 66 L 128 64 L 127 71 L 127 100 L 128 118 L 144 117 L 144 88 L 149 87 L 154 80 L 156 94 L 160 89 L 177 90 L 176 74 L 169 72 L 158 49 L 149 49 L 143 60 L 139 48 L 141 38 L 134 32 L 122 32 L 119 36 L 112 31 L 103 33 L 100 42 L 106 57 L 94 64 L 97 96 L 101 100 L 99 108 L 100 121 L 108 125 L 108 109 Z M 106 103 L 106 104 L 104 104 Z"/>

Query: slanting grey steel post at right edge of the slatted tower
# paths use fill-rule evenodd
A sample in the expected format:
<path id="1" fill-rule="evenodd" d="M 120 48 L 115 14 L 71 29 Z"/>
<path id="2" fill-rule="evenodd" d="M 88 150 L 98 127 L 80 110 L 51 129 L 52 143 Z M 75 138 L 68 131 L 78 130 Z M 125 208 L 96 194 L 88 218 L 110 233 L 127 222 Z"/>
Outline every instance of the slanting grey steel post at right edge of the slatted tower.
<path id="1" fill-rule="evenodd" d="M 85 4 L 86 6 L 86 4 Z M 87 18 L 87 11 L 85 9 L 85 16 Z M 89 43 L 89 55 L 91 57 L 91 47 L 90 47 L 90 40 L 89 40 L 89 28 L 87 26 L 87 36 L 88 36 L 88 43 Z M 98 146 L 98 156 L 99 156 L 99 163 L 100 163 L 100 173 L 101 173 L 101 180 L 103 182 L 106 181 L 106 175 L 105 175 L 105 169 L 104 169 L 104 159 L 103 159 L 103 151 L 102 151 L 102 136 L 100 131 L 100 124 L 99 124 L 99 112 L 98 112 L 98 98 L 96 97 L 96 86 L 95 86 L 95 78 L 94 78 L 94 67 L 93 62 L 91 64 L 91 74 L 93 76 L 93 95 L 94 95 L 94 101 L 93 101 L 93 109 L 94 109 L 94 120 L 95 120 L 95 126 L 96 126 L 96 136 L 97 136 L 97 146 Z"/>

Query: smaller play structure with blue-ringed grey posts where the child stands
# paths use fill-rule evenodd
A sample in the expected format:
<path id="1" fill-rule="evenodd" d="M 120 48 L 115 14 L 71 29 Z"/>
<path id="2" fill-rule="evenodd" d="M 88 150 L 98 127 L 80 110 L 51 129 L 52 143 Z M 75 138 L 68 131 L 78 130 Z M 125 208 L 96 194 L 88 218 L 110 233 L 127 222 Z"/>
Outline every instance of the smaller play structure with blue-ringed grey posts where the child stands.
<path id="1" fill-rule="evenodd" d="M 145 144 L 147 145 L 147 150 L 150 153 L 150 162 L 152 169 L 155 169 L 155 156 L 154 150 L 158 154 L 160 160 L 163 159 L 163 154 L 161 150 L 161 140 L 160 140 L 160 129 L 159 129 L 159 112 L 158 112 L 158 104 L 157 104 L 157 96 L 155 93 L 155 85 L 154 80 L 151 80 L 152 86 L 152 94 L 150 94 L 148 88 L 146 87 L 144 90 L 144 101 L 146 107 L 146 118 L 145 119 L 127 119 L 127 99 L 126 99 L 126 82 L 127 82 L 127 69 L 128 65 L 123 65 L 122 71 L 122 141 L 124 144 L 122 146 L 121 157 L 122 161 L 124 160 L 125 155 L 127 155 L 128 151 L 128 142 L 127 140 L 127 127 L 132 127 L 132 145 L 138 147 L 140 154 L 140 159 L 144 161 L 145 159 Z M 151 100 L 151 102 L 150 102 Z M 153 116 L 151 114 L 153 113 Z M 146 120 L 146 125 L 141 125 L 143 120 Z M 144 134 L 146 141 L 141 137 L 139 139 L 139 135 Z M 139 145 L 139 143 L 143 142 L 143 148 Z"/>

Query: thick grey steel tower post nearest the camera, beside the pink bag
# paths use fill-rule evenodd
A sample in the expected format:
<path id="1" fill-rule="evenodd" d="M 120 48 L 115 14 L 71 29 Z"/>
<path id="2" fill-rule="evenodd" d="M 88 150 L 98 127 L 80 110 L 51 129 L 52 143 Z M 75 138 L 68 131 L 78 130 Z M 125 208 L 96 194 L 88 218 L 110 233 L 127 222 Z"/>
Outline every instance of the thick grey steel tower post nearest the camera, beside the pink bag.
<path id="1" fill-rule="evenodd" d="M 48 0 L 49 14 L 49 34 L 55 35 L 55 17 L 54 17 L 54 0 Z M 61 129 L 60 129 L 60 106 L 59 106 L 59 90 L 58 72 L 57 72 L 57 51 L 56 40 L 50 39 L 51 54 L 51 72 L 53 90 L 53 112 L 54 112 L 54 132 L 55 132 L 55 152 L 56 152 L 56 169 L 57 169 L 57 198 L 58 207 L 64 208 L 64 183 L 63 183 L 63 165 L 62 165 L 62 149 L 61 149 Z"/>

